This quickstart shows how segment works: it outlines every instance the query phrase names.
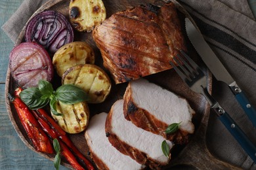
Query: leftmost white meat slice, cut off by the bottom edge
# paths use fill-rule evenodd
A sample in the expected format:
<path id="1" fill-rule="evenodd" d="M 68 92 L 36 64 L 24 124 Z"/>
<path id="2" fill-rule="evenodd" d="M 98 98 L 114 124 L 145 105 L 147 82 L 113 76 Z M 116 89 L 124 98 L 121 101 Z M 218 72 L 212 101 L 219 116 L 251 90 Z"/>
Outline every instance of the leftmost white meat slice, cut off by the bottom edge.
<path id="1" fill-rule="evenodd" d="M 105 112 L 93 116 L 85 133 L 91 156 L 98 169 L 137 170 L 144 168 L 143 165 L 129 156 L 121 154 L 110 144 L 105 133 L 106 117 Z"/>

